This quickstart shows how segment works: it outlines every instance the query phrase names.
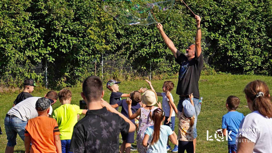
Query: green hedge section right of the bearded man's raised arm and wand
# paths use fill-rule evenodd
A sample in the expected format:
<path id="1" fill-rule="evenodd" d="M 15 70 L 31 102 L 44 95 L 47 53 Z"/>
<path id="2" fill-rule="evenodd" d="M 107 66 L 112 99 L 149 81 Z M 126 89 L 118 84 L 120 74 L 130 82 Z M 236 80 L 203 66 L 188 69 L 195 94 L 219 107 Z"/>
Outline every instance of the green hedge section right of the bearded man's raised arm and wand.
<path id="1" fill-rule="evenodd" d="M 189 1 L 204 20 L 211 52 L 223 71 L 271 71 L 271 0 Z"/>

